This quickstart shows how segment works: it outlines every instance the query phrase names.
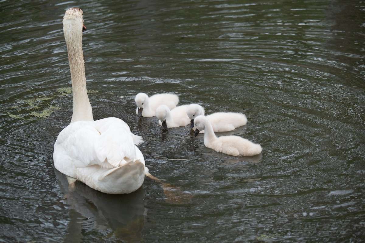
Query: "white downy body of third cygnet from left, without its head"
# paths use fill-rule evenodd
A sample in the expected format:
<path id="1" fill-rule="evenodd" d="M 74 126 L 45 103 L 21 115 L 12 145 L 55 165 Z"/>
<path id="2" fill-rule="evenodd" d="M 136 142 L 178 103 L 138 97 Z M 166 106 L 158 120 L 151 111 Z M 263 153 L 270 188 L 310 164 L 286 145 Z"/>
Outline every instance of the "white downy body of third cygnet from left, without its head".
<path id="1" fill-rule="evenodd" d="M 235 112 L 216 112 L 206 116 L 212 124 L 214 132 L 228 132 L 246 125 L 245 114 Z"/>

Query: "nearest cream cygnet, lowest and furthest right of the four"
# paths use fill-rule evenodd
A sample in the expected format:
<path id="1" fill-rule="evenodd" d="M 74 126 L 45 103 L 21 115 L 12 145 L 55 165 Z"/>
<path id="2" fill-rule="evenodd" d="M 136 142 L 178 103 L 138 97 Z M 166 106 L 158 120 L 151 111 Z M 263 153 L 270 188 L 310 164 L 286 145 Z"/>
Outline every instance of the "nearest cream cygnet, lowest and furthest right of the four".
<path id="1" fill-rule="evenodd" d="M 245 138 L 238 136 L 220 136 L 216 137 L 212 125 L 206 117 L 199 115 L 194 119 L 195 137 L 200 130 L 205 130 L 204 145 L 214 149 L 217 152 L 233 156 L 253 156 L 262 152 L 260 144 L 255 144 Z"/>

